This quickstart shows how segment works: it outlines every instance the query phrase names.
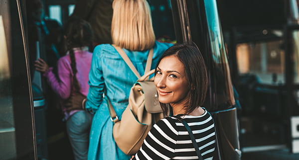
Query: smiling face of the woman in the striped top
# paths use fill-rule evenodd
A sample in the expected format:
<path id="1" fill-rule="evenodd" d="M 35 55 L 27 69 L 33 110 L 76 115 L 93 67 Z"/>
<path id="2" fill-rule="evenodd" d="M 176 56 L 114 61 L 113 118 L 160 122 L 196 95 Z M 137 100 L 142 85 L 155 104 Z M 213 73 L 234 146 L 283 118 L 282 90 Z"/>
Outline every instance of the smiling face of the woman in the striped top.
<path id="1" fill-rule="evenodd" d="M 182 105 L 188 99 L 189 87 L 184 65 L 176 56 L 164 57 L 157 69 L 154 83 L 161 103 Z"/>

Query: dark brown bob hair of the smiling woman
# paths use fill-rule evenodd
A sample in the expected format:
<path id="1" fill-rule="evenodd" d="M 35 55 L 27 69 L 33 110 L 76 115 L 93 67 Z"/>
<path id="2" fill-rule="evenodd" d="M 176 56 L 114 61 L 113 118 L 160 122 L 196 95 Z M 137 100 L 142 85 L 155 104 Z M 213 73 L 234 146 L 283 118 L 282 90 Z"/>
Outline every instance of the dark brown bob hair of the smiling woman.
<path id="1" fill-rule="evenodd" d="M 176 44 L 163 53 L 155 69 L 157 69 L 161 60 L 168 56 L 176 56 L 184 65 L 188 89 L 190 90 L 184 109 L 185 114 L 191 113 L 194 109 L 203 105 L 208 89 L 208 77 L 204 59 L 195 43 Z M 168 104 L 160 104 L 163 112 L 165 114 L 168 113 Z"/>

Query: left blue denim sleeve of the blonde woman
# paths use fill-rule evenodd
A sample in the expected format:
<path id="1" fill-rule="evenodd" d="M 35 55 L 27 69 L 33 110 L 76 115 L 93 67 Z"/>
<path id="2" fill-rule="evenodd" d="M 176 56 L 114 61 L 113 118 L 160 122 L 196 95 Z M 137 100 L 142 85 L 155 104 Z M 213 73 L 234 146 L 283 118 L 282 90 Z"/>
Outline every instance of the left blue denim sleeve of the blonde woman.
<path id="1" fill-rule="evenodd" d="M 103 101 L 105 85 L 101 67 L 101 52 L 101 46 L 97 46 L 94 49 L 89 72 L 89 90 L 87 94 L 87 100 L 85 102 L 85 109 L 91 113 L 94 113 Z"/>

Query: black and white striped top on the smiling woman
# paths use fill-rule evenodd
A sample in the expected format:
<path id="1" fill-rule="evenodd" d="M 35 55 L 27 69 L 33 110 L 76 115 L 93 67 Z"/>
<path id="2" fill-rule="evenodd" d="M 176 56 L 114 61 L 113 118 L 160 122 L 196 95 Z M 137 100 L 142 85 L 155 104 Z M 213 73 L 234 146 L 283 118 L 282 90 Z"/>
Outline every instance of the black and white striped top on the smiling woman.
<path id="1" fill-rule="evenodd" d="M 211 115 L 181 116 L 190 126 L 204 160 L 212 160 L 215 129 Z M 158 121 L 133 160 L 197 160 L 195 149 L 184 125 L 174 117 Z"/>

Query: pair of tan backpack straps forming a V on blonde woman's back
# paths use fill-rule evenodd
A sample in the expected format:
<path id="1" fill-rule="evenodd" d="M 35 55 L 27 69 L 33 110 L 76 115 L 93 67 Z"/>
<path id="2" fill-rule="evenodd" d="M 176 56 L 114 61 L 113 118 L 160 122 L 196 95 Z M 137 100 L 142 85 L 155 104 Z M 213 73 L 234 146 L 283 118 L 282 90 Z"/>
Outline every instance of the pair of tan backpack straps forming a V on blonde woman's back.
<path id="1" fill-rule="evenodd" d="M 132 61 L 130 60 L 130 58 L 128 57 L 128 55 L 125 53 L 125 51 L 116 45 L 112 45 L 117 52 L 121 55 L 121 57 L 124 59 L 124 61 L 126 62 L 126 64 L 130 67 L 130 69 L 132 70 L 132 72 L 136 75 L 136 77 L 139 79 L 141 76 L 139 74 L 139 72 L 136 70 L 136 68 L 134 67 Z M 145 69 L 145 74 L 147 72 L 149 72 L 150 70 L 150 66 L 151 66 L 151 61 L 152 61 L 152 55 L 153 55 L 153 49 L 151 48 L 149 50 L 149 56 L 148 56 L 148 60 L 147 60 L 147 64 L 146 64 L 146 69 Z"/>

